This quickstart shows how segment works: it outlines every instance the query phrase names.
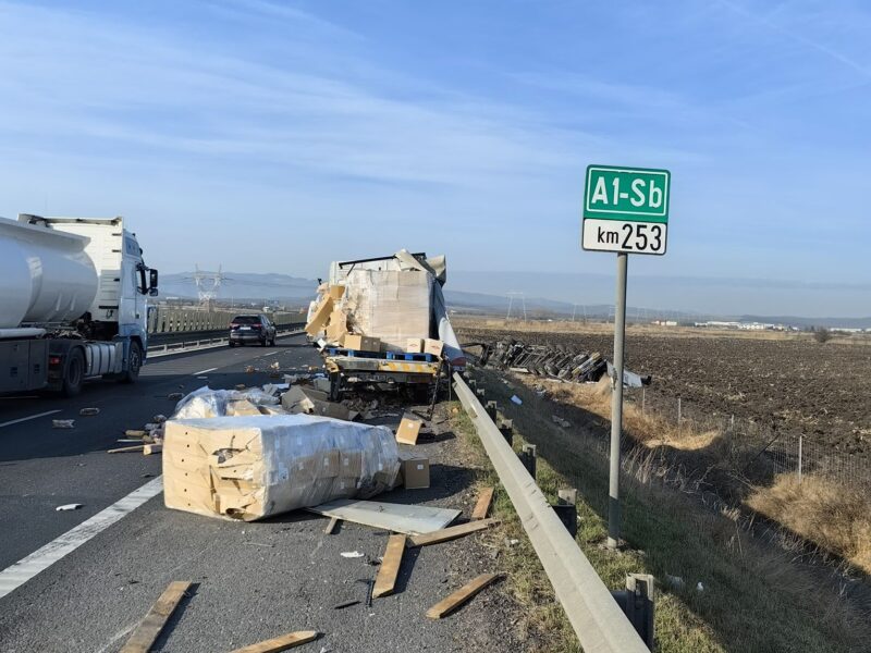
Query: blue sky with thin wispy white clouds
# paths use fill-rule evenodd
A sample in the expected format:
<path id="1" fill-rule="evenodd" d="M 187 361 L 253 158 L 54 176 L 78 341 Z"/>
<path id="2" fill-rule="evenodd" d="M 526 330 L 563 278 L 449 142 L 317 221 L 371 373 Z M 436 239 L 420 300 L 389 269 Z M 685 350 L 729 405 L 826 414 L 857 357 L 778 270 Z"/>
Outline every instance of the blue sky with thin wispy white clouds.
<path id="1" fill-rule="evenodd" d="M 869 34 L 859 0 L 0 0 L 0 215 L 122 214 L 165 272 L 405 247 L 585 301 L 586 167 L 665 168 L 630 303 L 868 316 Z"/>

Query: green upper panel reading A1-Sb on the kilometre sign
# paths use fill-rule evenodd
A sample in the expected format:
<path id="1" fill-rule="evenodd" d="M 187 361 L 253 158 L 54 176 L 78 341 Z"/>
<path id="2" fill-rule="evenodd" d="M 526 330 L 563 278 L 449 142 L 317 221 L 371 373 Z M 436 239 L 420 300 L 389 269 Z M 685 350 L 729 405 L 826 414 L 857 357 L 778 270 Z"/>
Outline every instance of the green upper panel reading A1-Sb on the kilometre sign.
<path id="1" fill-rule="evenodd" d="M 584 192 L 584 218 L 668 222 L 667 170 L 590 165 Z"/>

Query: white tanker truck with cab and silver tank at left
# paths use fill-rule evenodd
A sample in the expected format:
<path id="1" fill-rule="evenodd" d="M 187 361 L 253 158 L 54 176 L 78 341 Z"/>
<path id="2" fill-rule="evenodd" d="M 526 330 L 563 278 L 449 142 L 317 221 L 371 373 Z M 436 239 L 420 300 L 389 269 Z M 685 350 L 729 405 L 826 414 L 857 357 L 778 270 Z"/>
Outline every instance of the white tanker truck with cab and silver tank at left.
<path id="1" fill-rule="evenodd" d="M 0 218 L 0 393 L 136 381 L 157 283 L 123 218 Z"/>

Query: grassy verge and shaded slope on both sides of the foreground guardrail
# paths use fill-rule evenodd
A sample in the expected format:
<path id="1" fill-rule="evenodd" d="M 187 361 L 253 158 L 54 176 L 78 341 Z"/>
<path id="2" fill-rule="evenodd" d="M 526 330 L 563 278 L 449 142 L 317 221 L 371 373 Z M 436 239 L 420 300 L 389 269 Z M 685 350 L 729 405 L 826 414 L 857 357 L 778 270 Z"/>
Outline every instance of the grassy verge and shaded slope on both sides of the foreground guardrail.
<path id="1" fill-rule="evenodd" d="M 649 456 L 636 456 L 622 481 L 622 532 L 627 546 L 619 553 L 606 551 L 608 466 L 601 449 L 590 448 L 585 444 L 589 440 L 579 439 L 574 429 L 554 424 L 553 404 L 529 389 L 507 387 L 489 372 L 478 378 L 488 381 L 488 398 L 495 398 L 514 419 L 515 448 L 523 434 L 538 445 L 537 480 L 542 491 L 555 501 L 560 488 L 578 489 L 577 541 L 605 584 L 621 589 L 626 574 L 633 571 L 657 577 L 658 651 L 867 651 L 871 628 L 866 614 L 820 588 L 818 579 L 797 568 L 787 554 L 755 541 L 734 515 L 708 510 L 680 492 L 663 488 Z M 524 399 L 523 406 L 508 402 L 515 393 Z M 629 424 L 634 419 L 627 416 Z M 479 484 L 496 484 L 468 419 L 461 412 L 453 426 L 467 443 L 473 461 L 487 470 Z M 491 545 L 504 550 L 508 587 L 528 609 L 520 627 L 543 642 L 539 650 L 578 651 L 503 491 L 498 492 L 493 509 L 505 525 L 488 537 Z M 505 546 L 505 538 L 519 543 Z"/>

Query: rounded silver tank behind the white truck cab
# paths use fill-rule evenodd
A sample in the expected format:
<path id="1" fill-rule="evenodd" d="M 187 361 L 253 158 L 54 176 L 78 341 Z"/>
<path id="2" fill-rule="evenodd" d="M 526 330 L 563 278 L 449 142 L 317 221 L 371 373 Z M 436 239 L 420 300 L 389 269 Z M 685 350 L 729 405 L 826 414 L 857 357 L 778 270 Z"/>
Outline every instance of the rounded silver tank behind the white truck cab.
<path id="1" fill-rule="evenodd" d="M 0 218 L 0 329 L 81 317 L 97 295 L 88 242 Z"/>

